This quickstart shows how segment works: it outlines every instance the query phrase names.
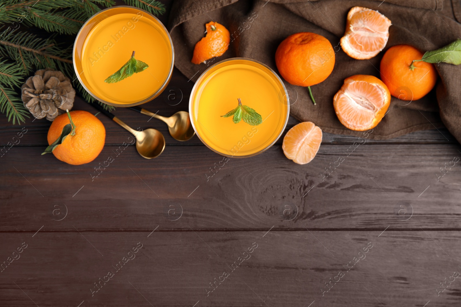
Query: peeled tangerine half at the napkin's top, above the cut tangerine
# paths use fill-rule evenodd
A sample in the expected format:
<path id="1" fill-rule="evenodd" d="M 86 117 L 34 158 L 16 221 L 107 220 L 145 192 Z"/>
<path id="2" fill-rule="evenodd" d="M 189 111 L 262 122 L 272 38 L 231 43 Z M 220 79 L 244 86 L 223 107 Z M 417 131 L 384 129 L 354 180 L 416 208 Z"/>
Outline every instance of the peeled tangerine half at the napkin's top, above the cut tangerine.
<path id="1" fill-rule="evenodd" d="M 354 6 L 347 14 L 346 32 L 341 38 L 344 52 L 358 60 L 376 56 L 387 44 L 390 25 L 380 12 Z"/>

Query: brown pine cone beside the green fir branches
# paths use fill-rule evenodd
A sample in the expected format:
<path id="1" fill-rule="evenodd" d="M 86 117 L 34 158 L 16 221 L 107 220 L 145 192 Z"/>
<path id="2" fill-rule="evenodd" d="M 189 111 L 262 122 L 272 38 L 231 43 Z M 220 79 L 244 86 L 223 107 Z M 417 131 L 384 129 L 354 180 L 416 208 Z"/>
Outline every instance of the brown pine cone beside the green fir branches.
<path id="1" fill-rule="evenodd" d="M 51 68 L 37 70 L 21 87 L 24 106 L 35 118 L 46 116 L 51 122 L 66 109 L 72 109 L 74 98 L 71 80 Z"/>

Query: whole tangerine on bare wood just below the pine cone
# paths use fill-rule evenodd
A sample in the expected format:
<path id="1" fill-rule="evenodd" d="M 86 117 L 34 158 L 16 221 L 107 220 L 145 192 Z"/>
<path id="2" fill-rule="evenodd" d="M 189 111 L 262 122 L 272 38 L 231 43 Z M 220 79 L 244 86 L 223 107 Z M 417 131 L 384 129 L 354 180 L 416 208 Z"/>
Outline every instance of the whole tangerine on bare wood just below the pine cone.
<path id="1" fill-rule="evenodd" d="M 69 133 L 64 141 L 53 150 L 59 160 L 72 165 L 89 163 L 100 154 L 106 140 L 106 129 L 102 122 L 87 111 L 69 112 L 75 125 L 75 134 Z M 47 140 L 53 144 L 62 133 L 62 128 L 71 123 L 67 114 L 56 117 L 51 124 Z"/>

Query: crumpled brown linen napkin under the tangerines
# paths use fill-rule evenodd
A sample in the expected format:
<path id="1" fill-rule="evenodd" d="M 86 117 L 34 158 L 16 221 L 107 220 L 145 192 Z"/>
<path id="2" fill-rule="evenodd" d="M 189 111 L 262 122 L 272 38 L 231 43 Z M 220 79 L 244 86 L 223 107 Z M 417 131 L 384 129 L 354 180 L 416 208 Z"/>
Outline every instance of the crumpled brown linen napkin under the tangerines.
<path id="1" fill-rule="evenodd" d="M 384 51 L 370 60 L 356 60 L 343 52 L 346 15 L 353 6 L 378 10 L 388 17 L 390 36 Z M 258 60 L 274 71 L 275 51 L 288 35 L 314 32 L 325 36 L 336 52 L 335 68 L 322 83 L 312 86 L 317 105 L 306 87 L 284 81 L 290 94 L 290 114 L 304 122 L 314 122 L 325 132 L 360 136 L 344 127 L 333 109 L 333 96 L 351 75 L 379 78 L 384 52 L 398 44 L 415 46 L 422 52 L 434 50 L 461 37 L 459 0 L 181 0 L 175 1 L 169 29 L 175 47 L 175 65 L 191 81 L 196 81 L 210 65 L 226 58 Z M 225 54 L 195 65 L 190 62 L 195 43 L 205 31 L 205 23 L 216 21 L 231 33 Z M 441 78 L 436 89 L 412 102 L 392 97 L 389 111 L 370 134 L 371 139 L 390 139 L 417 130 L 443 127 L 461 142 L 461 65 L 437 64 Z M 437 106 L 438 102 L 438 106 Z"/>

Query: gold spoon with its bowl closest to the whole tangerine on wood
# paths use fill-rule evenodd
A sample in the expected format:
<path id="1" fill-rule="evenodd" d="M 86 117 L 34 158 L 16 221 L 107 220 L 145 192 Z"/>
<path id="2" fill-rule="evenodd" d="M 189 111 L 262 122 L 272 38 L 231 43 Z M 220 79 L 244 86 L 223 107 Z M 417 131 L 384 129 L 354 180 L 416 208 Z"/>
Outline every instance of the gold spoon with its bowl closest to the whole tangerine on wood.
<path id="1" fill-rule="evenodd" d="M 111 118 L 112 121 L 118 123 L 120 126 L 133 133 L 136 137 L 136 150 L 142 157 L 146 159 L 156 158 L 160 156 L 165 149 L 165 138 L 159 130 L 148 128 L 146 130 L 136 131 L 122 122 L 117 116 L 114 116 L 112 113 L 104 110 L 104 108 L 99 104 L 93 103 L 92 105 L 101 113 Z"/>

